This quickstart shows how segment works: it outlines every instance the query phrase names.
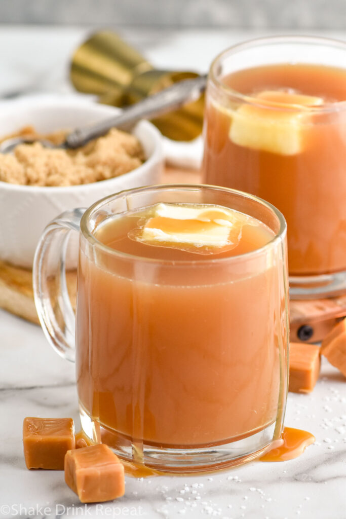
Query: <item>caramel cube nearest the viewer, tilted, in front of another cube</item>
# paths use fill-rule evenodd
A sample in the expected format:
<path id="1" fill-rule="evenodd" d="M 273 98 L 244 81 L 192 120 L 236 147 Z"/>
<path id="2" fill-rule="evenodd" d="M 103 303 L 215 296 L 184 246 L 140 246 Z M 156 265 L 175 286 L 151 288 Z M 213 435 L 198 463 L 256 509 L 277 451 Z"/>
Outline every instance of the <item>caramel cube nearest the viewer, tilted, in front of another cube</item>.
<path id="1" fill-rule="evenodd" d="M 125 492 L 124 468 L 103 443 L 66 453 L 65 482 L 82 503 L 111 501 Z"/>

